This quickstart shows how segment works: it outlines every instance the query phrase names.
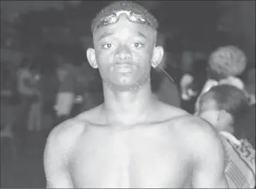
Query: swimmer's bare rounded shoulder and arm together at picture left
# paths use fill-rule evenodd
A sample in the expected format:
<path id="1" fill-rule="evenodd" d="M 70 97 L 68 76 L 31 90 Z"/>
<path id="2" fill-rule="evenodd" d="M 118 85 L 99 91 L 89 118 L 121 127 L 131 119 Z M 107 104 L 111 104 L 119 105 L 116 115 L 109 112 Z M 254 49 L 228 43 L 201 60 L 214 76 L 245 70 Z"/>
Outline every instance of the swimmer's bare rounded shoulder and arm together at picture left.
<path id="1" fill-rule="evenodd" d="M 84 124 L 72 118 L 56 126 L 48 136 L 43 156 L 47 188 L 74 188 L 68 170 L 68 161 Z"/>

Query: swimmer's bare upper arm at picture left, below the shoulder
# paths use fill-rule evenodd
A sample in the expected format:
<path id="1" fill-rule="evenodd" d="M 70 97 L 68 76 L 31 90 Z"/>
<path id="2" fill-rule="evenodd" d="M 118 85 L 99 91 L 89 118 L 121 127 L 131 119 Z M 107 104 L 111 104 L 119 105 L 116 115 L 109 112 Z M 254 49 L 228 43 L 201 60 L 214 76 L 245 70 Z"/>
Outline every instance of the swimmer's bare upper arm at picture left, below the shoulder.
<path id="1" fill-rule="evenodd" d="M 63 148 L 63 141 L 58 135 L 58 128 L 48 137 L 44 153 L 46 188 L 74 188 L 68 171 L 68 156 Z M 65 138 L 63 138 L 65 139 Z"/>

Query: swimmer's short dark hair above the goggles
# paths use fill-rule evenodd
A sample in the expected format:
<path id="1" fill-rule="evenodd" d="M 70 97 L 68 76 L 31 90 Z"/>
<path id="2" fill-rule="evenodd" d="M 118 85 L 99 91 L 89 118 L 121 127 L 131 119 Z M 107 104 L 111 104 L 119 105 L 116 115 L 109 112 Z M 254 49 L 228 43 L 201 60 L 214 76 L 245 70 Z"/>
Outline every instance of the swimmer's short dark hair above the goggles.
<path id="1" fill-rule="evenodd" d="M 95 19 L 92 20 L 91 30 L 92 33 L 95 32 L 96 23 L 102 19 L 104 16 L 108 16 L 110 13 L 116 13 L 121 10 L 132 11 L 134 13 L 140 14 L 147 18 L 147 20 L 152 25 L 153 29 L 157 29 L 159 22 L 156 17 L 153 16 L 146 8 L 140 4 L 134 3 L 132 1 L 114 1 L 112 4 L 109 4 L 107 7 L 104 7 L 100 13 L 97 13 Z"/>

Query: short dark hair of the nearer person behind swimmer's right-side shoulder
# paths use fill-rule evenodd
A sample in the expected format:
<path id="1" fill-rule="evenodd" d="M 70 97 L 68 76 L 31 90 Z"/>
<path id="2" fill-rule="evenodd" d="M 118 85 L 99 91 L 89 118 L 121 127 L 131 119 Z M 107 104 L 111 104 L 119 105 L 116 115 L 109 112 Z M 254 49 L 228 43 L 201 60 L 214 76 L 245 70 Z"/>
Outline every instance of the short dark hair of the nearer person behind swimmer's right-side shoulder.
<path id="1" fill-rule="evenodd" d="M 232 116 L 234 120 L 234 135 L 237 138 L 241 138 L 243 128 L 238 123 L 246 118 L 250 109 L 246 93 L 231 85 L 214 86 L 199 97 L 199 106 L 202 106 L 202 104 L 208 100 L 208 97 L 215 100 L 217 109 L 223 109 Z"/>

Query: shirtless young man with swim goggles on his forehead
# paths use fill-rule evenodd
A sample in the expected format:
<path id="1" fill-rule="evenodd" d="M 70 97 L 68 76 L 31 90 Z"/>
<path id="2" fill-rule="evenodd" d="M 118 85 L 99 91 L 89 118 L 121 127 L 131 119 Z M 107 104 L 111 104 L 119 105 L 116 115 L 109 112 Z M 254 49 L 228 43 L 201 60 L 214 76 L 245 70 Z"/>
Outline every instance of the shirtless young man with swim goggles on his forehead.
<path id="1" fill-rule="evenodd" d="M 119 1 L 92 23 L 87 57 L 105 100 L 49 135 L 47 188 L 227 188 L 213 126 L 152 95 L 150 67 L 164 54 L 155 46 L 156 19 Z"/>

